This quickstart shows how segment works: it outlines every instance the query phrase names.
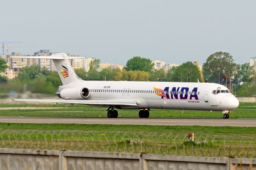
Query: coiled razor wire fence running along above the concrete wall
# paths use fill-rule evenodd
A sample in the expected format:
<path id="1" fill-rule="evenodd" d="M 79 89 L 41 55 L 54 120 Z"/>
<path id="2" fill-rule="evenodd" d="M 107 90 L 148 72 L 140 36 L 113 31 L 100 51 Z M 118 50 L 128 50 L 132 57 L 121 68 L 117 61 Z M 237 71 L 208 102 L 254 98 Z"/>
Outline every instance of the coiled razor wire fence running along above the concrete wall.
<path id="1" fill-rule="evenodd" d="M 256 137 L 80 130 L 0 130 L 0 148 L 256 158 Z"/>

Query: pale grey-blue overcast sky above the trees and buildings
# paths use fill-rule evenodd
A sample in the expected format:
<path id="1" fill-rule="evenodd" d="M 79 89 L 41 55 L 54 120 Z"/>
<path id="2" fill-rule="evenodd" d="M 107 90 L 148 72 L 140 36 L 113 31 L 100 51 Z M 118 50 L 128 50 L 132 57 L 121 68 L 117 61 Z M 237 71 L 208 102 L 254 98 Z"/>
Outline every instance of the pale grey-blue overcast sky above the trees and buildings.
<path id="1" fill-rule="evenodd" d="M 5 0 L 0 23 L 0 42 L 23 42 L 10 49 L 22 54 L 50 49 L 118 64 L 141 56 L 201 65 L 216 51 L 236 63 L 256 56 L 255 0 Z"/>

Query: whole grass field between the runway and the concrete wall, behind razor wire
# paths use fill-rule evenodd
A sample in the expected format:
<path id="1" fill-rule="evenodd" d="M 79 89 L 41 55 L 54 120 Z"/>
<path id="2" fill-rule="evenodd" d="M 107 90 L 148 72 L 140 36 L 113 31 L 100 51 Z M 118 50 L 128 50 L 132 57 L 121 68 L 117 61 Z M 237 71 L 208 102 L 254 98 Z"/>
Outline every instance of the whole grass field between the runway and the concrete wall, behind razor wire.
<path id="1" fill-rule="evenodd" d="M 256 157 L 252 127 L 21 123 L 0 123 L 0 127 L 1 148 Z M 201 143 L 187 142 L 188 132 L 194 132 Z M 141 142 L 130 144 L 130 139 Z"/>

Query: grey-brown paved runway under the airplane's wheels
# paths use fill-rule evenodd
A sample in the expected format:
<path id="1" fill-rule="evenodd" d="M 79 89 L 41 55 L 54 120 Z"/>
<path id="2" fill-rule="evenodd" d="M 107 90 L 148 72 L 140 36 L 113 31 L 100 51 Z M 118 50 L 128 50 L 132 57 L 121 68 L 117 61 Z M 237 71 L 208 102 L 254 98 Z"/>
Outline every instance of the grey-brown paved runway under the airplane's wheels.
<path id="1" fill-rule="evenodd" d="M 1 123 L 78 123 L 107 125 L 232 126 L 256 127 L 256 119 L 164 119 L 164 118 L 67 118 L 67 117 L 0 117 Z"/>

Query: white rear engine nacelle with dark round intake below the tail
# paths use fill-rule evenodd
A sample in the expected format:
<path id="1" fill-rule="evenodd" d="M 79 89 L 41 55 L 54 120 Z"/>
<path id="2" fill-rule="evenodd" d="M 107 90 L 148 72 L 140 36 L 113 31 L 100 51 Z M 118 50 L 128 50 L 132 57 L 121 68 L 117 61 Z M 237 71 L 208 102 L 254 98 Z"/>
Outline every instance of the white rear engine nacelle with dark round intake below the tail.
<path id="1" fill-rule="evenodd" d="M 72 99 L 72 100 L 79 100 L 79 99 L 85 99 L 89 97 L 90 91 L 86 87 L 83 87 L 81 89 L 79 88 L 68 88 L 63 89 L 60 91 L 60 93 L 56 93 L 58 97 L 62 99 Z"/>

